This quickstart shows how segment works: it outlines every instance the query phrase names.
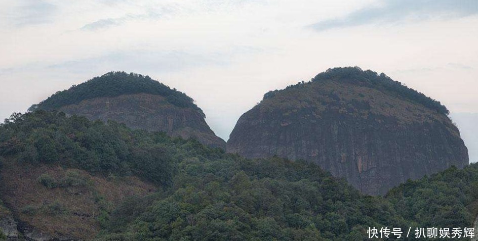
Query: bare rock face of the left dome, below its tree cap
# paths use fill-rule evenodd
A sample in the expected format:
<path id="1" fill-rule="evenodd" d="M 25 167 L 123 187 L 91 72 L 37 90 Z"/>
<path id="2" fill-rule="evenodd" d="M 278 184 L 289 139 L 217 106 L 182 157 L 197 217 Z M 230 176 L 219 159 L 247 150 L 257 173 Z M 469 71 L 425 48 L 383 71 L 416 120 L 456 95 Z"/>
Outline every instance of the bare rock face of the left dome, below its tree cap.
<path id="1" fill-rule="evenodd" d="M 185 139 L 194 137 L 210 147 L 225 149 L 225 141 L 209 128 L 201 112 L 171 105 L 161 95 L 136 93 L 94 98 L 58 110 L 91 120 L 114 120 L 133 129 L 165 131 Z"/>

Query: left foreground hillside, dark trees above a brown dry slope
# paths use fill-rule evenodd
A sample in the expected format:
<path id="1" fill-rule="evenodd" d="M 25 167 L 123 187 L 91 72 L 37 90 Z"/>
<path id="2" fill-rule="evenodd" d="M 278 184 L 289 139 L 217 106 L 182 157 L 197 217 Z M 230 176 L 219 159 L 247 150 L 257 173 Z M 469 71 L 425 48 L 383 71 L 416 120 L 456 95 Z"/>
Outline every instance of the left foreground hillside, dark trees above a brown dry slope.
<path id="1" fill-rule="evenodd" d="M 117 205 L 170 183 L 170 154 L 125 128 L 43 110 L 0 124 L 2 232 L 91 240 Z"/>

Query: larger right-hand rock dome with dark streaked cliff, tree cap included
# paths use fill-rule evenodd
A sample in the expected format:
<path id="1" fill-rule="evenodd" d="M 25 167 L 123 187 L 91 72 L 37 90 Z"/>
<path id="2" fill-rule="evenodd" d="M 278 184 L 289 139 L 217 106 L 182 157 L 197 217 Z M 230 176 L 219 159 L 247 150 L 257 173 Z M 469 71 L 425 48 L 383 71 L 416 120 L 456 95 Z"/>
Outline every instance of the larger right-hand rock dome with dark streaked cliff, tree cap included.
<path id="1" fill-rule="evenodd" d="M 468 164 L 447 112 L 383 74 L 338 68 L 264 95 L 237 121 L 227 151 L 304 159 L 381 195 L 409 178 Z"/>

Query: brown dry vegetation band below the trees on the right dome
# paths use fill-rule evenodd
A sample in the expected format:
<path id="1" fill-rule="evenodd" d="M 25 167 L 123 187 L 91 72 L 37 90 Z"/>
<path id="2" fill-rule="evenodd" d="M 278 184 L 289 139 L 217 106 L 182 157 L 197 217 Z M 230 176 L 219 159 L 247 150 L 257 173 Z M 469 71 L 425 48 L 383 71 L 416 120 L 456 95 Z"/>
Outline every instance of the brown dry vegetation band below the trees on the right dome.
<path id="1" fill-rule="evenodd" d="M 340 100 L 334 99 L 334 95 Z M 352 103 L 369 105 L 370 109 L 362 109 Z M 329 108 L 361 118 L 367 118 L 370 113 L 394 117 L 401 125 L 434 120 L 451 123 L 446 115 L 400 96 L 383 90 L 333 80 L 309 82 L 296 88 L 284 89 L 277 92 L 274 98 L 263 100 L 260 108 L 261 112 L 270 112 L 278 108 L 286 116 L 303 108 L 313 108 L 313 115 L 320 118 L 321 113 Z"/>

